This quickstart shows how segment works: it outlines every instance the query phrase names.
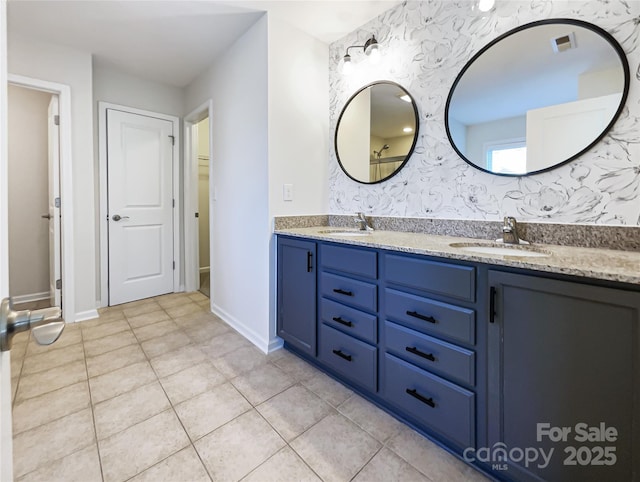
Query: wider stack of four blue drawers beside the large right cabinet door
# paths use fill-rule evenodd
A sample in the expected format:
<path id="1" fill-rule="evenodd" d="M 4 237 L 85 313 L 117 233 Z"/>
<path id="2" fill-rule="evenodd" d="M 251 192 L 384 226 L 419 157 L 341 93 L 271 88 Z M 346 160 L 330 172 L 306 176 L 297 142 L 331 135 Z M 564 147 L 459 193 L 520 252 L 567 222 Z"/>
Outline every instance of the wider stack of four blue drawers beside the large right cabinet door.
<path id="1" fill-rule="evenodd" d="M 381 254 L 380 387 L 399 414 L 476 447 L 475 266 Z"/>

